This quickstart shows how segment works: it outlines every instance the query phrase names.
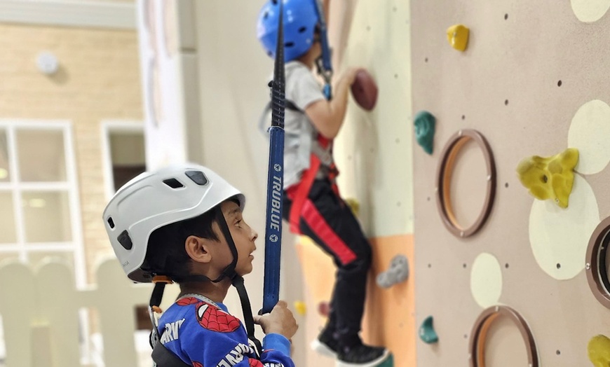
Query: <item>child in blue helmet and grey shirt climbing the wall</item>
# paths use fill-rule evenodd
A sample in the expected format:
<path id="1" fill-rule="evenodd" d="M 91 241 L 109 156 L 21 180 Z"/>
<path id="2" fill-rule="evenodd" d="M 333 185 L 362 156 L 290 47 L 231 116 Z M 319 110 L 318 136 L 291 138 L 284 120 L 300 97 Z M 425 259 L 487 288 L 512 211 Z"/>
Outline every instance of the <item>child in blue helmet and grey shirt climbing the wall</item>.
<path id="1" fill-rule="evenodd" d="M 348 92 L 359 69 L 337 80 L 330 99 L 330 57 L 325 20 L 318 0 L 282 0 L 285 64 L 285 144 L 283 216 L 292 233 L 307 235 L 337 265 L 330 317 L 314 341 L 319 352 L 335 356 L 339 367 L 377 366 L 388 359 L 384 347 L 365 345 L 360 324 L 372 251 L 358 220 L 339 195 L 339 173 L 332 139 L 343 124 Z M 259 13 L 257 36 L 276 57 L 280 1 L 269 0 Z M 323 92 L 313 67 L 327 85 Z M 261 120 L 261 126 L 264 126 Z"/>

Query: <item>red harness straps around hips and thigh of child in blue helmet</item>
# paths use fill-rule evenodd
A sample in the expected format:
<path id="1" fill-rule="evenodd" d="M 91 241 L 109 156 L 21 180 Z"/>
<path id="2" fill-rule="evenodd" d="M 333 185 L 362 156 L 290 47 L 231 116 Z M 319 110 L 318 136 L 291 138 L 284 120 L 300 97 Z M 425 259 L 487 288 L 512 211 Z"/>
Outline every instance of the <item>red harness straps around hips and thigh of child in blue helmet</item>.
<path id="1" fill-rule="evenodd" d="M 332 140 L 323 137 L 322 134 L 318 134 L 318 143 L 323 148 L 327 148 L 327 146 L 332 143 Z M 320 161 L 318 155 L 311 153 L 309 168 L 303 172 L 301 181 L 287 190 L 288 197 L 292 199 L 292 207 L 290 208 L 289 216 L 290 232 L 296 233 L 297 235 L 301 234 L 301 230 L 299 228 L 301 212 L 303 211 L 303 206 L 307 200 L 307 197 L 309 196 L 309 191 L 311 191 L 313 180 L 316 179 L 316 174 L 318 174 L 320 165 L 322 165 L 322 162 Z M 335 183 L 335 178 L 338 174 L 339 171 L 333 162 L 328 172 L 328 178 L 332 183 L 332 191 L 334 191 L 334 193 L 337 195 L 339 195 L 339 188 L 337 187 L 337 183 Z"/>

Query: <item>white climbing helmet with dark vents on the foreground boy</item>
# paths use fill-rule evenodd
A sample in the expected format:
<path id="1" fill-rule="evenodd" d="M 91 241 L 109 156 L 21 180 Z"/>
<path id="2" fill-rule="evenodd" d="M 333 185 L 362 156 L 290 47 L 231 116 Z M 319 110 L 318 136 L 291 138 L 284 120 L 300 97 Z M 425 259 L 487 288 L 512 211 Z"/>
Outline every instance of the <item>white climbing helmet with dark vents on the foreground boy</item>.
<path id="1" fill-rule="evenodd" d="M 193 163 L 144 172 L 123 185 L 104 209 L 106 232 L 123 271 L 135 282 L 151 282 L 140 269 L 148 240 L 157 228 L 194 218 L 236 197 L 240 191 L 207 167 Z"/>

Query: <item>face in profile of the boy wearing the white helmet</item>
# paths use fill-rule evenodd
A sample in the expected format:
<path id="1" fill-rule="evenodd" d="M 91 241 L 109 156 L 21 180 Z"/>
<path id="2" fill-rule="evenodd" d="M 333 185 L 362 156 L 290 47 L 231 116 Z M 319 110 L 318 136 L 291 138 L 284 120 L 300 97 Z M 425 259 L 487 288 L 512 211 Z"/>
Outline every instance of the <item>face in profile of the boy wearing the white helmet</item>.
<path id="1" fill-rule="evenodd" d="M 238 259 L 237 264 L 235 265 L 235 271 L 238 275 L 249 274 L 252 272 L 252 260 L 254 260 L 252 252 L 257 249 L 255 240 L 258 237 L 258 233 L 245 223 L 241 209 L 236 202 L 223 202 L 221 208 L 226 225 L 229 226 L 231 237 L 233 237 L 233 242 L 235 242 L 235 247 L 237 249 Z M 224 239 L 222 236 L 220 238 Z M 223 240 L 222 242 L 226 244 L 226 240 Z M 227 244 L 224 248 L 228 253 L 228 261 L 226 261 L 225 264 L 231 263 L 231 250 L 229 249 L 229 245 Z"/>

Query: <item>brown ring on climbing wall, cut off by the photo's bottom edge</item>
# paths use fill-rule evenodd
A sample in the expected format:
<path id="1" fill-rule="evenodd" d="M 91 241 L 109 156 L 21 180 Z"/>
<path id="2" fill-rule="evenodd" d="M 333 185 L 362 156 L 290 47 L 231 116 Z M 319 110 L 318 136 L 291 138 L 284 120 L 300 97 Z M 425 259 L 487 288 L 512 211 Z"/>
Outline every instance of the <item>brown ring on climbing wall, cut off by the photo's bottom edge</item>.
<path id="1" fill-rule="evenodd" d="M 527 322 L 521 317 L 519 312 L 508 306 L 489 307 L 483 310 L 477 321 L 475 321 L 473 331 L 470 333 L 470 342 L 468 343 L 470 367 L 485 367 L 484 357 L 487 331 L 489 331 L 489 326 L 492 326 L 498 317 L 508 317 L 508 319 L 515 323 L 517 328 L 519 328 L 525 342 L 525 348 L 527 349 L 527 366 L 538 367 L 540 361 L 538 360 L 538 349 L 536 349 L 534 336 L 531 335 Z"/>

